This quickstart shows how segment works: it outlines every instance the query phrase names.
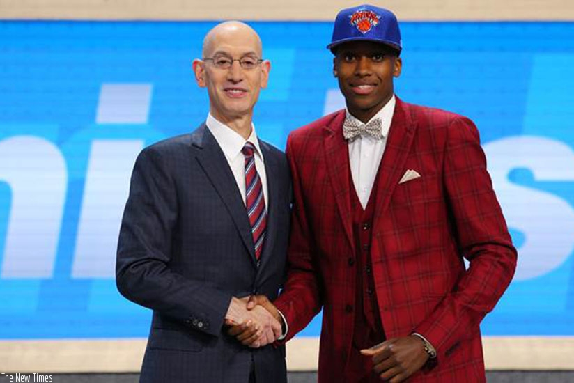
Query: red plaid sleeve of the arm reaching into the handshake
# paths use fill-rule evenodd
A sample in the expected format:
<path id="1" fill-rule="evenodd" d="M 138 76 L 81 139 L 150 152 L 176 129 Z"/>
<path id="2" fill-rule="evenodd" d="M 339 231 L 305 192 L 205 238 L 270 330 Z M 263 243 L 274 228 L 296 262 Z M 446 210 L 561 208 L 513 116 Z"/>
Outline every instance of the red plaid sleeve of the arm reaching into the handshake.
<path id="1" fill-rule="evenodd" d="M 274 302 L 288 324 L 289 330 L 283 341 L 288 341 L 304 329 L 323 306 L 318 271 L 312 257 L 312 234 L 307 223 L 301 180 L 297 171 L 297 156 L 293 150 L 293 139 L 289 136 L 286 155 L 293 180 L 293 210 L 287 279 L 281 295 Z"/>

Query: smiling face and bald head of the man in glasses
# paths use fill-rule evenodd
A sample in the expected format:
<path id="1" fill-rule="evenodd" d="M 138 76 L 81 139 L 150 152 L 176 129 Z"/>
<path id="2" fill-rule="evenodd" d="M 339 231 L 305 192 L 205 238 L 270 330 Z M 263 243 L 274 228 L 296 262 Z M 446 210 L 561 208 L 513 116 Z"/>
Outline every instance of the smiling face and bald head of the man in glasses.
<path id="1" fill-rule="evenodd" d="M 208 88 L 210 113 L 222 123 L 249 118 L 261 88 L 267 86 L 270 63 L 246 70 L 238 61 L 231 68 L 217 68 L 216 61 L 228 58 L 261 58 L 261 40 L 257 33 L 241 22 L 224 22 L 215 26 L 203 41 L 203 58 L 195 60 L 197 84 Z"/>

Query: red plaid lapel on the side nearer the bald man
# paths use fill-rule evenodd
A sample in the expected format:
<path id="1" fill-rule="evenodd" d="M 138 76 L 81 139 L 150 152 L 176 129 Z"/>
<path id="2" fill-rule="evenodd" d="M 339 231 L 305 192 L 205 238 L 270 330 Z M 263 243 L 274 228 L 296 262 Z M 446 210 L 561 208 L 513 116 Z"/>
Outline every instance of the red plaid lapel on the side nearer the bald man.
<path id="1" fill-rule="evenodd" d="M 325 160 L 327 162 L 327 172 L 331 180 L 331 185 L 335 194 L 335 201 L 341 216 L 341 223 L 345 228 L 345 234 L 350 247 L 355 248 L 352 240 L 352 216 L 349 180 L 349 148 L 347 141 L 343 138 L 343 122 L 345 121 L 345 111 L 340 111 L 325 127 L 327 137 L 324 141 Z M 317 201 L 320 203 L 320 201 Z"/>

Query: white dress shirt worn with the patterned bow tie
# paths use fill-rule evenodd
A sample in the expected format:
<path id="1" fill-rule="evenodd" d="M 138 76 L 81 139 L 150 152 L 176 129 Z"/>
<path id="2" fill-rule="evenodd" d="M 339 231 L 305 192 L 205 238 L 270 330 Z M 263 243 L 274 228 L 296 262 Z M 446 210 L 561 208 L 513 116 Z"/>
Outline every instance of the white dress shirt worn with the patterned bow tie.
<path id="1" fill-rule="evenodd" d="M 366 208 L 366 204 L 369 203 L 369 196 L 371 196 L 371 190 L 373 190 L 375 178 L 377 177 L 382 153 L 385 153 L 395 103 L 396 100 L 393 95 L 391 100 L 371 118 L 371 120 L 380 118 L 382 139 L 378 140 L 373 139 L 371 136 L 361 135 L 348 143 L 352 183 L 355 185 L 355 191 L 357 192 L 357 197 L 359 197 L 363 209 Z M 362 122 L 355 118 L 355 116 L 352 116 L 348 110 L 347 118 L 357 120 L 362 124 Z M 371 120 L 367 121 L 367 123 Z"/>

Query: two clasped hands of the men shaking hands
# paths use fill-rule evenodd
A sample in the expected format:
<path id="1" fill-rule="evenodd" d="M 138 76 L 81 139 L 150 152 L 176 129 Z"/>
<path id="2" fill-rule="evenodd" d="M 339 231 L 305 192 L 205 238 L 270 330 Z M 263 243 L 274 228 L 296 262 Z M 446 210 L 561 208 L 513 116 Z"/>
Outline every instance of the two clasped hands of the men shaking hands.
<path id="1" fill-rule="evenodd" d="M 254 348 L 276 341 L 282 333 L 282 321 L 279 311 L 265 295 L 233 297 L 225 315 L 227 334 Z"/>

